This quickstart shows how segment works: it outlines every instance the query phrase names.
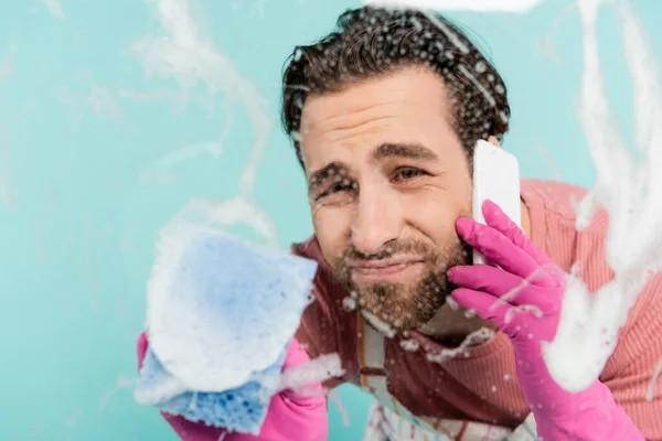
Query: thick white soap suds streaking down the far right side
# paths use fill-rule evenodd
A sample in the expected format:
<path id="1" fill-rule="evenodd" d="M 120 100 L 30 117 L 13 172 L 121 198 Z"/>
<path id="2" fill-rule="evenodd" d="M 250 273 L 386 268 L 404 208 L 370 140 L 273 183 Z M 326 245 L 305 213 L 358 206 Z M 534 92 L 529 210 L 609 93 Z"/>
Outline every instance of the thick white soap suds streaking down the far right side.
<path id="1" fill-rule="evenodd" d="M 643 157 L 637 161 L 616 131 L 607 98 L 597 40 L 601 2 L 577 2 L 585 33 L 578 112 L 598 174 L 577 204 L 577 228 L 585 228 L 598 207 L 609 213 L 606 254 L 615 278 L 590 293 L 576 275 L 567 277 L 557 335 L 543 344 L 543 353 L 552 376 L 569 391 L 583 390 L 599 377 L 647 275 L 662 269 L 662 92 L 656 61 L 632 8 L 619 2 L 615 8 L 632 75 L 637 142 Z"/>

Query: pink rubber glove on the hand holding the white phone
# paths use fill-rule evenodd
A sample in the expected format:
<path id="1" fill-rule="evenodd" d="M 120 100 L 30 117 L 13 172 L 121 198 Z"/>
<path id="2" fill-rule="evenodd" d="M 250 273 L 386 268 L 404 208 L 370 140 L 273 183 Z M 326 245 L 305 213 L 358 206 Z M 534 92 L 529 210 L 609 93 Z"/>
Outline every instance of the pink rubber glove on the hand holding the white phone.
<path id="1" fill-rule="evenodd" d="M 492 321 L 511 340 L 517 380 L 534 413 L 537 433 L 551 440 L 643 440 L 616 404 L 607 386 L 596 380 L 570 394 L 552 378 L 541 342 L 552 341 L 565 293 L 565 271 L 549 259 L 493 202 L 482 206 L 485 225 L 458 218 L 458 234 L 488 260 L 448 271 L 461 287 L 452 298 L 463 308 Z M 568 363 L 573 363 L 568 359 Z"/>

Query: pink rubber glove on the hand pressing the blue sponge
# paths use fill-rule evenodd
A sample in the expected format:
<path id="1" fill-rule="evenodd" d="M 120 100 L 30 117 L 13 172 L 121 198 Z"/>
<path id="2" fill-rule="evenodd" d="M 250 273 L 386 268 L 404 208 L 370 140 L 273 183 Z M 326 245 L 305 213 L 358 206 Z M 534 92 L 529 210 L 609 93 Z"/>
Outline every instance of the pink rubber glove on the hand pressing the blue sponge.
<path id="1" fill-rule="evenodd" d="M 147 346 L 147 335 L 142 333 L 138 338 L 138 368 L 142 366 Z M 308 355 L 299 346 L 299 343 L 292 340 L 287 347 L 284 369 L 308 359 Z M 311 391 L 312 394 L 302 396 L 292 390 L 285 390 L 274 396 L 258 435 L 228 433 L 224 429 L 213 428 L 202 422 L 191 422 L 183 417 L 166 412 L 161 412 L 161 415 L 182 441 L 325 440 L 329 433 L 329 420 L 327 419 L 327 398 L 323 395 L 322 385 L 310 385 L 306 389 L 307 392 Z M 319 394 L 317 394 L 318 391 Z"/>

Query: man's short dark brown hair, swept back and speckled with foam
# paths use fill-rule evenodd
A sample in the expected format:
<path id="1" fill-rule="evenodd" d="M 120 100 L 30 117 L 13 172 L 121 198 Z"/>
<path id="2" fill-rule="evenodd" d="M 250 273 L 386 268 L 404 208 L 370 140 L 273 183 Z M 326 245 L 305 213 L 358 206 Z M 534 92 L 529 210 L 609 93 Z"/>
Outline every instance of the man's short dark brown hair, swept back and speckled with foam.
<path id="1" fill-rule="evenodd" d="M 342 13 L 337 29 L 314 44 L 297 46 L 282 77 L 282 123 L 301 165 L 300 125 L 310 94 L 346 86 L 398 68 L 426 66 L 450 92 L 451 125 L 469 162 L 479 139 L 508 131 L 505 84 L 469 37 L 438 13 L 363 7 Z"/>

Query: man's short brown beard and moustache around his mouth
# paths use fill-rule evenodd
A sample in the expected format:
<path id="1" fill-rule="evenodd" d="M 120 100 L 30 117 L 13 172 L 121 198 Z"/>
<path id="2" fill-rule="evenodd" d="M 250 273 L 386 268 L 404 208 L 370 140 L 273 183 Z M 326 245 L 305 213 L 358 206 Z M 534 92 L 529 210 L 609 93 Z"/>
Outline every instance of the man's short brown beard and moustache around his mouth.
<path id="1" fill-rule="evenodd" d="M 359 309 L 370 312 L 396 332 L 412 331 L 430 321 L 457 288 L 446 277 L 448 269 L 471 265 L 471 247 L 457 236 L 441 250 L 415 239 L 393 241 L 385 248 L 387 251 L 378 255 L 365 255 L 350 247 L 330 266 L 340 283 L 355 299 Z M 348 258 L 380 260 L 398 254 L 423 257 L 424 269 L 415 282 L 356 283 L 346 265 Z"/>

